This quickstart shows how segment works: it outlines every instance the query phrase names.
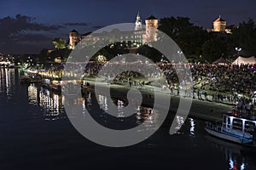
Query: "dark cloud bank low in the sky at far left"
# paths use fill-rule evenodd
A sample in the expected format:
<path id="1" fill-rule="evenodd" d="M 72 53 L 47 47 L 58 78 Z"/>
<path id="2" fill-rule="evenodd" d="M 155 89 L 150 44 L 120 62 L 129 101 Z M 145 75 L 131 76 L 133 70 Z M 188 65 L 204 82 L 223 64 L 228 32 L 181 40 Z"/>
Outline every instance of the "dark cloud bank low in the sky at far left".
<path id="1" fill-rule="evenodd" d="M 34 52 L 39 50 L 40 43 L 51 42 L 52 38 L 42 32 L 58 31 L 63 28 L 63 26 L 46 26 L 34 20 L 32 17 L 21 14 L 16 14 L 15 18 L 8 16 L 0 19 L 0 53 L 17 54 L 23 52 L 24 49 Z"/>

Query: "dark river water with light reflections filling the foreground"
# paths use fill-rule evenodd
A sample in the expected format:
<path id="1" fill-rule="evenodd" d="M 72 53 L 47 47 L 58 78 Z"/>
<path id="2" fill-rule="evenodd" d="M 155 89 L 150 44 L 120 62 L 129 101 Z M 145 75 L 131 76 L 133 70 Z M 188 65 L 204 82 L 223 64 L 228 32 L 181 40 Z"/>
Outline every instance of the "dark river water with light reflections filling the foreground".
<path id="1" fill-rule="evenodd" d="M 169 134 L 171 123 L 165 122 L 148 139 L 128 147 L 95 144 L 73 127 L 61 94 L 35 84 L 20 84 L 20 73 L 15 69 L 0 69 L 0 168 L 3 170 L 256 169 L 255 153 L 212 138 L 204 130 L 205 122 L 193 118 L 186 119 L 173 135 Z M 120 112 L 113 120 L 104 113 L 108 100 L 104 95 L 89 93 L 75 102 L 82 103 L 98 122 L 106 125 L 122 122 L 123 101 L 115 101 Z M 145 128 L 154 128 L 157 121 L 157 116 L 131 117 L 128 123 L 145 122 Z"/>

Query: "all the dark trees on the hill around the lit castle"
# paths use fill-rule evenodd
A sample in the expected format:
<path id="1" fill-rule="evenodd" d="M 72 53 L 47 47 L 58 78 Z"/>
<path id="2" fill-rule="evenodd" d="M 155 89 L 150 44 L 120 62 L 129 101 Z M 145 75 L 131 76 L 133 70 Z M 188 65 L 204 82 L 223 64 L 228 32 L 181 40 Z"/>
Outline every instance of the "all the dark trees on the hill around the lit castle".
<path id="1" fill-rule="evenodd" d="M 240 54 L 243 56 L 256 54 L 256 25 L 252 19 L 242 21 L 238 26 L 234 26 L 232 34 L 208 33 L 201 26 L 195 26 L 191 23 L 188 17 L 161 18 L 158 29 L 171 37 L 190 61 L 211 63 L 219 57 L 236 59 L 236 47 L 242 49 Z M 62 38 L 55 38 L 53 43 L 55 50 L 48 53 L 47 49 L 43 49 L 38 55 L 39 62 L 53 61 L 55 57 L 67 59 L 71 52 L 67 48 L 67 42 Z M 137 52 L 153 61 L 159 61 L 162 58 L 162 54 L 158 50 L 147 45 L 138 48 Z M 93 59 L 96 59 L 97 55 L 112 59 L 117 54 L 127 53 L 129 53 L 129 50 L 121 46 L 121 43 L 114 43 L 98 51 Z"/>

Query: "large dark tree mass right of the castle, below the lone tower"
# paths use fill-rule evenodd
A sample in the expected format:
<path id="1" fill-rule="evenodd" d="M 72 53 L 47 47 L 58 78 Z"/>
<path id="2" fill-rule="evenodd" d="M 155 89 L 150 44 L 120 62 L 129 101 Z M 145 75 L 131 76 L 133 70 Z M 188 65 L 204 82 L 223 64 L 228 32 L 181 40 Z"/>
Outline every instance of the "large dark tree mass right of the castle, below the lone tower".
<path id="1" fill-rule="evenodd" d="M 189 22 L 187 17 L 160 19 L 159 30 L 165 32 L 183 50 L 187 59 L 212 62 L 220 57 L 236 59 L 236 47 L 241 55 L 256 54 L 256 25 L 252 19 L 232 28 L 232 34 L 207 32 Z"/>

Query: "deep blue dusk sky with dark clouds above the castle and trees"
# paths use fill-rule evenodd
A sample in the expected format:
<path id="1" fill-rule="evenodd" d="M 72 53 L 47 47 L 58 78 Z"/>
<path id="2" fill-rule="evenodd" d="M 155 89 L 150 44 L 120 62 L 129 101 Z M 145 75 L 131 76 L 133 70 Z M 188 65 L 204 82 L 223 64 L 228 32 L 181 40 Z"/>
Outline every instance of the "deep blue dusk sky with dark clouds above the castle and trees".
<path id="1" fill-rule="evenodd" d="M 212 28 L 220 14 L 227 25 L 248 18 L 256 19 L 255 0 L 1 0 L 0 53 L 38 54 L 53 48 L 52 40 L 75 29 L 84 34 L 102 26 L 135 22 L 139 11 L 142 20 L 189 17 L 196 26 Z M 144 24 L 144 23 L 143 23 Z"/>

